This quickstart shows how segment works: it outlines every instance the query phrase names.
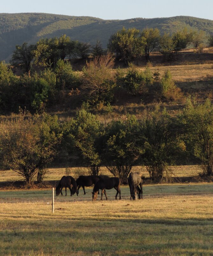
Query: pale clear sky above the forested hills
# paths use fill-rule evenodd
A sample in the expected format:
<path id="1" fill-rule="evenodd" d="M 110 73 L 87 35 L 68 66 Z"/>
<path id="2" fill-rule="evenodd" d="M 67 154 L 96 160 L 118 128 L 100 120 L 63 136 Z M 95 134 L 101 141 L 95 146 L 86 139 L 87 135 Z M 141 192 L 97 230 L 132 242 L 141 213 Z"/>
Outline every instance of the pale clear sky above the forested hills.
<path id="1" fill-rule="evenodd" d="M 1 0 L 0 13 L 45 12 L 101 19 L 193 16 L 213 20 L 213 0 Z"/>

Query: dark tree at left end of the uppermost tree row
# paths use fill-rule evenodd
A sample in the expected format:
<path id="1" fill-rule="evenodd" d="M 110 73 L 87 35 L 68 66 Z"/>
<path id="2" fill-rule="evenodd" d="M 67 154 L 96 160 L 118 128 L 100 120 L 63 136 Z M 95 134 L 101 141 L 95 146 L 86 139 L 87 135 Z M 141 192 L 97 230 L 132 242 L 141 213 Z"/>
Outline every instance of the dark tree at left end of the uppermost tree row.
<path id="1" fill-rule="evenodd" d="M 34 48 L 34 45 L 31 44 L 28 46 L 27 43 L 16 45 L 16 50 L 13 51 L 10 63 L 14 66 L 21 65 L 25 72 L 29 72 L 31 62 L 33 60 L 32 51 Z"/>

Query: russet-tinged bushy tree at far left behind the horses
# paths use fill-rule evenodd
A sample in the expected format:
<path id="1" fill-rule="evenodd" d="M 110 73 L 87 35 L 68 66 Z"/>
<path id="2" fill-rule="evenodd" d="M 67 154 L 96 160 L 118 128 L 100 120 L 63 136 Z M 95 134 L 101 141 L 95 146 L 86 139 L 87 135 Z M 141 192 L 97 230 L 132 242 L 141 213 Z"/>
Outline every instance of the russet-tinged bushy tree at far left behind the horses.
<path id="1" fill-rule="evenodd" d="M 20 111 L 16 118 L 1 120 L 0 166 L 18 173 L 29 185 L 39 172 L 40 182 L 43 171 L 56 154 L 60 138 L 56 116 L 32 117 L 28 112 Z"/>

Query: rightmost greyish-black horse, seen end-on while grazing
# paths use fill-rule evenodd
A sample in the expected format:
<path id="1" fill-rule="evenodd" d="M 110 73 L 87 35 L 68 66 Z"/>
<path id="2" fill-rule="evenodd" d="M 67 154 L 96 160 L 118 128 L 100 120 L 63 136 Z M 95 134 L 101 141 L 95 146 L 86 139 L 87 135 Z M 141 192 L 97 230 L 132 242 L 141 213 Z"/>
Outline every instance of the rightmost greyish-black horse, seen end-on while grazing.
<path id="1" fill-rule="evenodd" d="M 130 199 L 137 199 L 136 192 L 138 194 L 138 199 L 143 199 L 143 179 L 141 174 L 138 172 L 130 173 L 128 183 L 130 187 Z"/>

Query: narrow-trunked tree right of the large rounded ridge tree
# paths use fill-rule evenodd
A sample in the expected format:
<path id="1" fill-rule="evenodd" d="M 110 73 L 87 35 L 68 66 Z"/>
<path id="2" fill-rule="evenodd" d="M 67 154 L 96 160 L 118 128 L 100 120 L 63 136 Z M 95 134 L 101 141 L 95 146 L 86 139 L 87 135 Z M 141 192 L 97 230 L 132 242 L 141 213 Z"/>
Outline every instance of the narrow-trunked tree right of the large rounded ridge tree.
<path id="1" fill-rule="evenodd" d="M 150 53 L 159 45 L 160 30 L 158 28 L 146 28 L 141 32 L 141 47 L 145 52 L 146 61 Z"/>

